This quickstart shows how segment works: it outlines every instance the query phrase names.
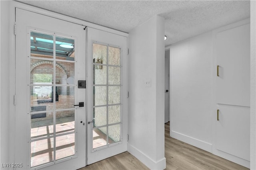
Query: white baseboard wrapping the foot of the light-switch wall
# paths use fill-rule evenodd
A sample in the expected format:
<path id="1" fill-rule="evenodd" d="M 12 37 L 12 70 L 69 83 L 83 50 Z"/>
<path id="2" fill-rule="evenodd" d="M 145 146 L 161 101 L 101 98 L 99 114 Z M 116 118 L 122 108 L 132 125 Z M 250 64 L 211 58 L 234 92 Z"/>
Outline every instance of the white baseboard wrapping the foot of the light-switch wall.
<path id="1" fill-rule="evenodd" d="M 134 146 L 128 144 L 128 152 L 135 156 L 138 160 L 140 160 L 143 164 L 145 164 L 151 170 L 163 170 L 166 168 L 166 158 L 163 157 L 160 160 L 154 161 L 146 154 L 135 148 Z"/>

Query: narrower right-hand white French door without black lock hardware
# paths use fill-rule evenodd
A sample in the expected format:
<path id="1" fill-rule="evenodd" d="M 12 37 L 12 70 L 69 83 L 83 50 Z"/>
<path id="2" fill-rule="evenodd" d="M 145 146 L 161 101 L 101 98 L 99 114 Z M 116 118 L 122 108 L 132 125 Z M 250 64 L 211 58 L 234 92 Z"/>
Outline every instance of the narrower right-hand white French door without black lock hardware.
<path id="1" fill-rule="evenodd" d="M 127 150 L 127 37 L 87 28 L 88 164 Z"/>

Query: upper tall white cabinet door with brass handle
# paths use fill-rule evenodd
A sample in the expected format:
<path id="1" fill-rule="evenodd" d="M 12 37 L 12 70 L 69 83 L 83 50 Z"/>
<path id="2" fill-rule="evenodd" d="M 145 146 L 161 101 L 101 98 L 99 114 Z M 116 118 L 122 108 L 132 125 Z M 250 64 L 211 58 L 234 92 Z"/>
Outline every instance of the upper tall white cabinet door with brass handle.
<path id="1" fill-rule="evenodd" d="M 217 33 L 217 103 L 250 107 L 250 23 Z"/>

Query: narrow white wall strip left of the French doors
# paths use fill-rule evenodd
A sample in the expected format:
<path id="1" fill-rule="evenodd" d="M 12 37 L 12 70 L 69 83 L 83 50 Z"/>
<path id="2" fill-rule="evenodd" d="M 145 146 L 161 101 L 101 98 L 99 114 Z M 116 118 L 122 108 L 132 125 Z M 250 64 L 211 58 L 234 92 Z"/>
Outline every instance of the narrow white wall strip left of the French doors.
<path id="1" fill-rule="evenodd" d="M 0 163 L 9 163 L 9 5 L 8 1 L 0 1 L 1 4 L 1 52 L 0 52 L 0 78 L 1 78 L 1 108 L 0 108 Z M 2 169 L 2 168 L 1 168 Z"/>

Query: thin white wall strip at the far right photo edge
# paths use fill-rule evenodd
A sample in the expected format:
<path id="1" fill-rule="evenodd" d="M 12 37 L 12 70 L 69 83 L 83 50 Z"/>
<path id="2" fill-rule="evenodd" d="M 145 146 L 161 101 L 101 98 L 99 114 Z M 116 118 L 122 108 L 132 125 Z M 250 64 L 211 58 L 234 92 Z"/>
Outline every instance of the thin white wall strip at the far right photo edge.
<path id="1" fill-rule="evenodd" d="M 250 169 L 256 170 L 256 1 L 251 1 L 251 116 Z"/>

